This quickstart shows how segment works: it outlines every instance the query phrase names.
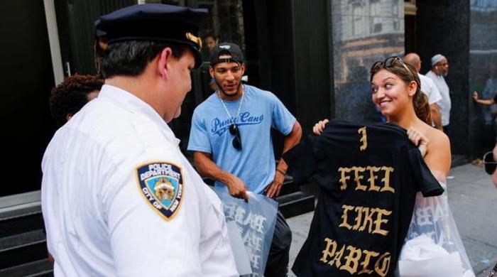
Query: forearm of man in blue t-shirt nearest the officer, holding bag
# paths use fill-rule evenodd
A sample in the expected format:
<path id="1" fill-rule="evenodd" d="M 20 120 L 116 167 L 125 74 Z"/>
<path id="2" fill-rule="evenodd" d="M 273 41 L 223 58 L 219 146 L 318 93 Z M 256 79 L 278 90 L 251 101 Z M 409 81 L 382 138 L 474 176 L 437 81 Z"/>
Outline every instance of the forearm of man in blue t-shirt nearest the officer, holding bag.
<path id="1" fill-rule="evenodd" d="M 228 187 L 231 196 L 249 201 L 247 187 L 244 182 L 235 175 L 219 168 L 219 166 L 212 161 L 211 154 L 195 151 L 193 152 L 193 161 L 195 163 L 195 168 L 197 168 L 200 175 L 225 184 L 226 187 Z"/>

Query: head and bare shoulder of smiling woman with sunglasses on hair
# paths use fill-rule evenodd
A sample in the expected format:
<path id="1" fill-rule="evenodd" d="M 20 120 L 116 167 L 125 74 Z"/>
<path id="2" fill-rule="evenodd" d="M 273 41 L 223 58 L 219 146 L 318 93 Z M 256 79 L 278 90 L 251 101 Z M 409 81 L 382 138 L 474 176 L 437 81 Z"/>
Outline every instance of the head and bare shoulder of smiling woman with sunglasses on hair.
<path id="1" fill-rule="evenodd" d="M 420 148 L 428 167 L 447 175 L 451 163 L 449 139 L 427 124 L 431 122 L 430 106 L 420 91 L 416 70 L 398 57 L 374 63 L 371 88 L 371 99 L 387 121 L 409 129 L 409 139 Z"/>

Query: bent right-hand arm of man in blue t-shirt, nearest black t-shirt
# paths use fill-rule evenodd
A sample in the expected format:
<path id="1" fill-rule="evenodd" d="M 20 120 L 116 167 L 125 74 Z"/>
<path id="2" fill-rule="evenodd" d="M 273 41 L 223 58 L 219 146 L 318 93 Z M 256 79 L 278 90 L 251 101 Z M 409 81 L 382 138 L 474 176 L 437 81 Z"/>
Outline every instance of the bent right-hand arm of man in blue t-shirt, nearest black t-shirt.
<path id="1" fill-rule="evenodd" d="M 293 124 L 292 131 L 290 134 L 285 136 L 285 141 L 283 142 L 283 153 L 290 150 L 293 146 L 299 143 L 300 138 L 302 137 L 302 127 L 295 121 Z M 288 165 L 280 158 L 278 165 L 276 165 L 275 177 L 271 185 L 266 188 L 266 196 L 267 197 L 276 197 L 280 195 L 281 186 L 283 185 L 283 181 L 285 180 L 286 170 L 288 170 Z"/>

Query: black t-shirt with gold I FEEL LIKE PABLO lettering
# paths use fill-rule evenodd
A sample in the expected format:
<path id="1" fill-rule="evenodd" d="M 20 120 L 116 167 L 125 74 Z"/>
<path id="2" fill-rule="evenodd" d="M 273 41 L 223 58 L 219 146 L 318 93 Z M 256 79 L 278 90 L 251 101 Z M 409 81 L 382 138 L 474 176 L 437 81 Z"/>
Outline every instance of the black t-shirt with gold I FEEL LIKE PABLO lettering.
<path id="1" fill-rule="evenodd" d="M 393 276 L 416 192 L 443 192 L 393 124 L 331 121 L 283 158 L 297 183 L 312 176 L 321 187 L 297 276 Z"/>

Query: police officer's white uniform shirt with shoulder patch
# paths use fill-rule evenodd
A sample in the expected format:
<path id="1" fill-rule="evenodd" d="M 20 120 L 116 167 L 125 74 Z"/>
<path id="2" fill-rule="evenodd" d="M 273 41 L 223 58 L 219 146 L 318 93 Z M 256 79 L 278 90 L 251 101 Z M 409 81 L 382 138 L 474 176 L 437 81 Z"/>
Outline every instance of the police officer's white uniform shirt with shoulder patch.
<path id="1" fill-rule="evenodd" d="M 222 203 L 178 143 L 152 107 L 109 85 L 57 131 L 42 163 L 55 276 L 238 276 Z M 159 172 L 177 178 L 161 179 L 171 214 L 141 187 Z"/>

